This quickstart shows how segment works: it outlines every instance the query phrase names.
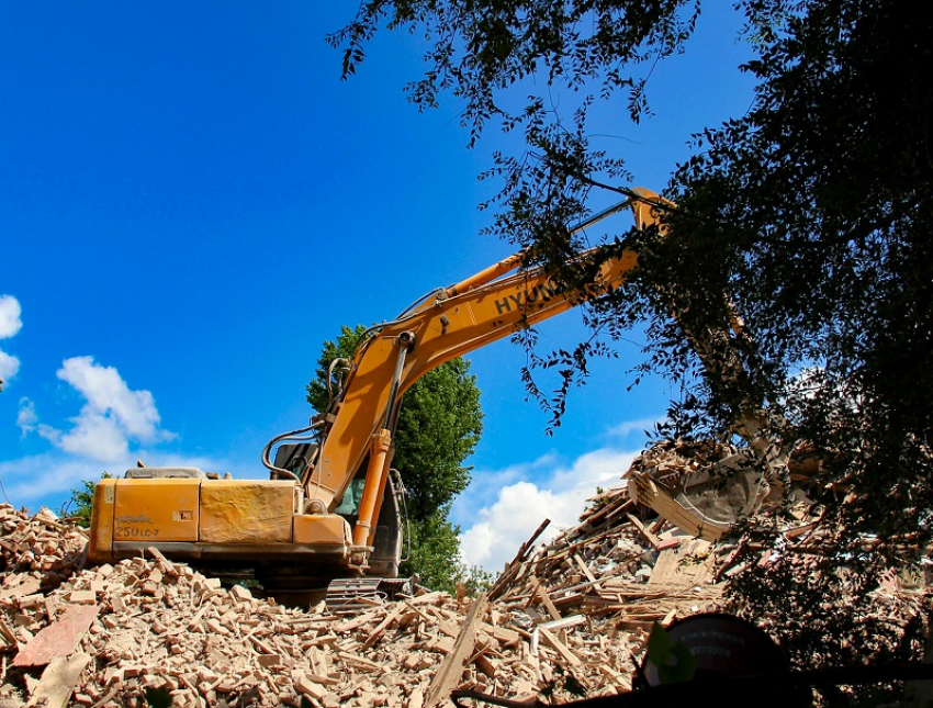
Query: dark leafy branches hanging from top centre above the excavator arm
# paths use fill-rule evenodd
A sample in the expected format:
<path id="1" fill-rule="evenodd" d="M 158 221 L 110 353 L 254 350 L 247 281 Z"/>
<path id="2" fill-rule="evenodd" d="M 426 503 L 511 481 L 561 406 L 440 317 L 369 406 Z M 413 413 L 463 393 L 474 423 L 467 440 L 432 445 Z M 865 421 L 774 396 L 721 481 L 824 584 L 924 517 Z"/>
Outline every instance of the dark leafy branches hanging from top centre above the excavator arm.
<path id="1" fill-rule="evenodd" d="M 630 181 L 622 156 L 593 145 L 591 109 L 620 98 L 623 115 L 647 116 L 652 69 L 684 49 L 699 11 L 698 2 L 683 1 L 366 2 L 328 41 L 342 50 L 347 78 L 380 29 L 421 34 L 425 72 L 405 87 L 408 99 L 421 110 L 438 105 L 443 95 L 457 101 L 471 144 L 488 125 L 524 138 L 524 149 L 497 153 L 481 176 L 503 186 L 483 205 L 495 212 L 487 232 L 522 248 L 533 246 L 529 266 L 544 263 L 555 280 L 577 286 L 585 273 L 567 268 L 569 255 L 592 235 L 569 238 L 564 226 L 588 213 L 593 190 L 608 190 L 618 200 Z M 589 322 L 599 334 L 574 351 L 570 367 L 555 370 L 561 383 L 553 395 L 536 390 L 533 370 L 564 359 L 560 351 L 532 360 L 526 371 L 529 393 L 551 413 L 552 426 L 560 425 L 569 391 L 585 378 L 574 373 L 580 364 L 604 356 L 605 340 L 619 334 L 617 317 L 597 311 Z"/>

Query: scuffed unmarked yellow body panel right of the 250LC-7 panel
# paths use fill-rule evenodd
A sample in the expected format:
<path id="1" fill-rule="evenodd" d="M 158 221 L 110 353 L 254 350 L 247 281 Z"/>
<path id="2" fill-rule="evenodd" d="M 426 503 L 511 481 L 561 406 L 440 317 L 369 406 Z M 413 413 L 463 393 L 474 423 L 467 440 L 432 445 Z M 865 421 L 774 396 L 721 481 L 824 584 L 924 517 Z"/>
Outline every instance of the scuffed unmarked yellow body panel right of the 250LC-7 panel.
<path id="1" fill-rule="evenodd" d="M 272 480 L 204 480 L 201 483 L 201 541 L 289 543 L 295 513 L 295 484 Z"/>

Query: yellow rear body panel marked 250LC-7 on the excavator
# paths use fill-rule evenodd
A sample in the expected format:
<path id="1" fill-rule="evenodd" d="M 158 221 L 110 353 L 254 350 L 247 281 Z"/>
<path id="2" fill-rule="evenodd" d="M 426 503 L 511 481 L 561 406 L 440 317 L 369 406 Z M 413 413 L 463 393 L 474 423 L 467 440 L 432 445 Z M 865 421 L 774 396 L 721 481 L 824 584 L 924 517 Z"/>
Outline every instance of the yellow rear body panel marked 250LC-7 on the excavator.
<path id="1" fill-rule="evenodd" d="M 196 541 L 201 480 L 117 480 L 116 541 Z"/>

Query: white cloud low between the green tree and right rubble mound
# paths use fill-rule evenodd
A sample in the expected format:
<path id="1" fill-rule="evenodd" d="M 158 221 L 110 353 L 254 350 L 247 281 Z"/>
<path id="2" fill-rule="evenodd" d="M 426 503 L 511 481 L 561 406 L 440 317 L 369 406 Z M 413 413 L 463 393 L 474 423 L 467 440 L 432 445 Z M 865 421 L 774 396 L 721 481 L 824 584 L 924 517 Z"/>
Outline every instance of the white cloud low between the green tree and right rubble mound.
<path id="1" fill-rule="evenodd" d="M 621 484 L 622 473 L 637 454 L 636 451 L 602 448 L 581 456 L 570 465 L 548 456 L 503 472 L 474 472 L 473 484 L 480 487 L 480 496 L 492 498 L 482 508 L 469 513 L 470 518 L 479 521 L 461 536 L 463 561 L 468 565 L 501 571 L 546 518 L 551 524 L 539 542 L 575 525 L 586 498 L 593 496 L 597 486 Z M 524 479 L 513 481 L 516 473 Z M 494 487 L 494 494 L 484 493 L 484 487 Z M 463 498 L 471 496 L 472 486 Z M 458 506 L 459 499 L 454 508 Z M 460 510 L 458 514 L 464 516 Z"/>

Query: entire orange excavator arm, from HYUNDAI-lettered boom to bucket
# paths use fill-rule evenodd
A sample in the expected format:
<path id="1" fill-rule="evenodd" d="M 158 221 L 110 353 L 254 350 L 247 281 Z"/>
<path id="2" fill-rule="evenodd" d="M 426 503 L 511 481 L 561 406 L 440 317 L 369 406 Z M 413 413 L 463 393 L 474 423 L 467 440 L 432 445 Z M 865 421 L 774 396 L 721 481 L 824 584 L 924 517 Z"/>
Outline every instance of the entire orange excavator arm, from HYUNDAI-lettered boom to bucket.
<path id="1" fill-rule="evenodd" d="M 639 228 L 660 227 L 663 233 L 659 207 L 673 209 L 674 204 L 649 190 L 638 189 L 631 199 L 597 214 L 585 225 L 626 207 L 632 210 Z M 432 293 L 396 319 L 370 330 L 350 364 L 342 396 L 327 420 L 318 457 L 303 475 L 310 505 L 318 510 L 333 512 L 335 502 L 342 497 L 350 480 L 366 463 L 366 483 L 353 529 L 353 543 L 372 546 L 374 519 L 379 518 L 392 461 L 395 417 L 405 391 L 426 372 L 454 357 L 617 288 L 638 260 L 637 254 L 631 250 L 607 260 L 603 260 L 600 255 L 605 257 L 599 248 L 595 248 L 577 257 L 581 266 L 587 265 L 587 261 L 602 263 L 586 291 L 565 292 L 540 268 L 518 270 L 526 254 L 516 254 L 456 285 Z M 741 379 L 744 368 L 732 339 L 745 338 L 746 335 L 741 319 L 728 302 L 726 310 L 730 313 L 728 325 L 701 333 L 685 328 L 685 333 L 709 377 Z M 672 314 L 676 317 L 676 313 Z M 760 506 L 768 491 L 767 480 L 777 479 L 779 471 L 786 467 L 786 456 L 766 434 L 766 428 L 765 412 L 751 405 L 742 406 L 735 422 L 737 432 L 745 438 L 749 449 L 763 463 L 766 473 L 745 474 L 749 477 L 745 480 L 747 498 L 731 518 L 723 518 L 721 512 L 718 520 L 704 514 L 704 509 L 710 506 L 724 508 L 722 495 L 708 484 L 704 487 L 702 499 L 686 491 L 675 496 L 647 477 L 632 487 L 632 493 L 686 530 L 698 536 L 718 536 L 738 516 L 751 514 Z M 731 461 L 733 474 L 741 473 L 738 470 L 740 462 Z M 729 504 L 734 507 L 734 503 Z"/>

